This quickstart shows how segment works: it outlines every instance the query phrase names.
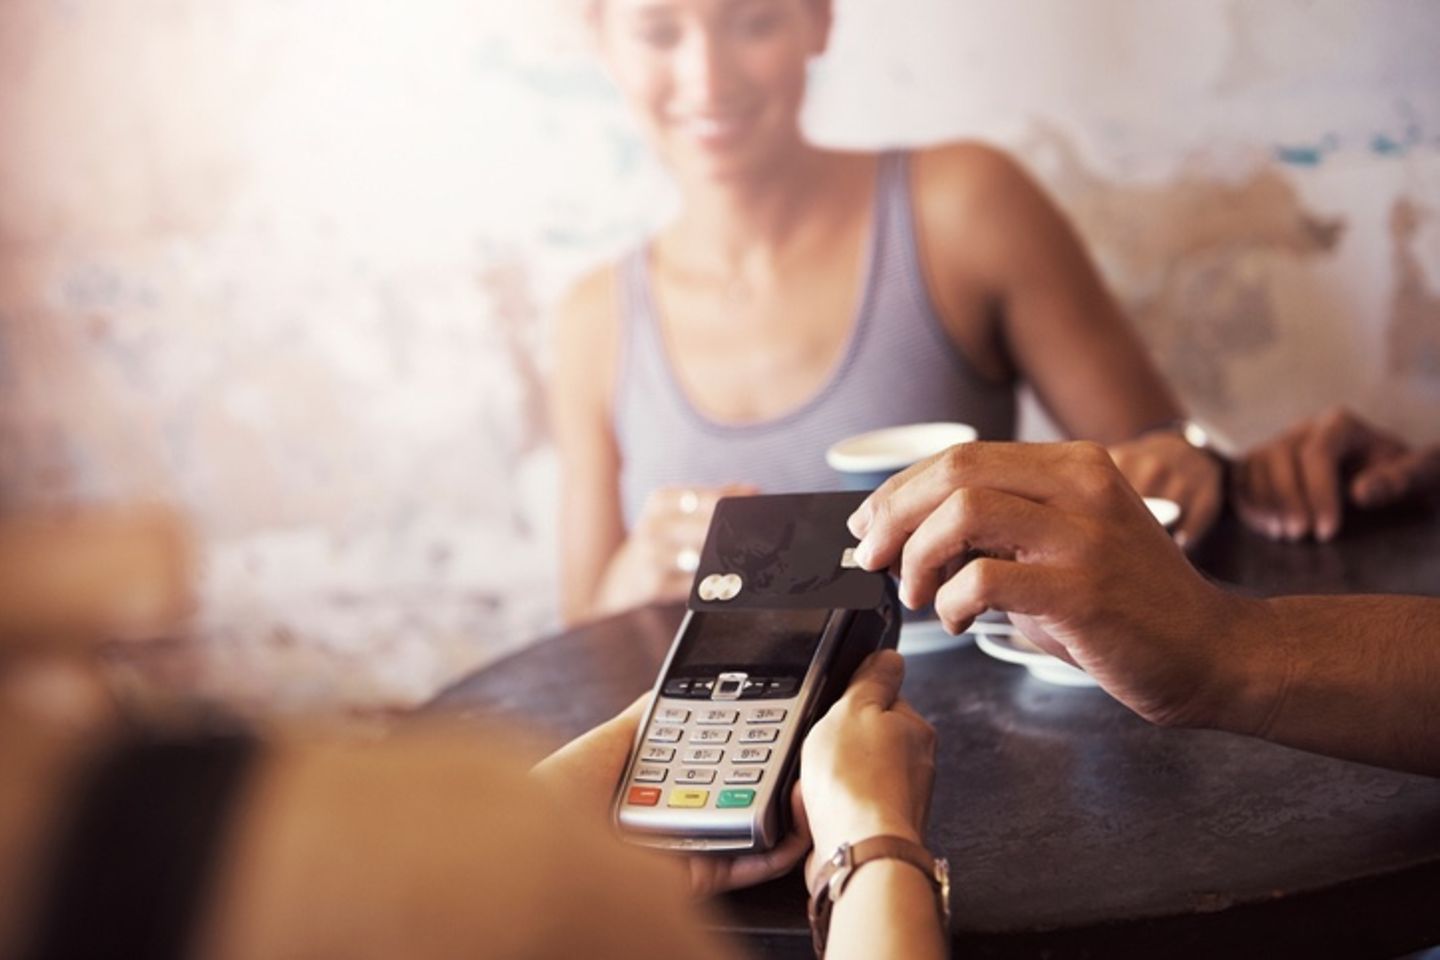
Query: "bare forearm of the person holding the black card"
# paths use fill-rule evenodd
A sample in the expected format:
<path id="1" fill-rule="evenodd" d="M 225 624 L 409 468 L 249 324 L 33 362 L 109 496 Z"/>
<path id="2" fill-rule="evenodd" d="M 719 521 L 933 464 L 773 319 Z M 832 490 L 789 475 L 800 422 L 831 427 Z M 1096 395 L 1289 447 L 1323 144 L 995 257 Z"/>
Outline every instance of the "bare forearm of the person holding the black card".
<path id="1" fill-rule="evenodd" d="M 1234 695 L 1214 725 L 1440 776 L 1440 599 L 1244 602 L 1228 639 Z"/>

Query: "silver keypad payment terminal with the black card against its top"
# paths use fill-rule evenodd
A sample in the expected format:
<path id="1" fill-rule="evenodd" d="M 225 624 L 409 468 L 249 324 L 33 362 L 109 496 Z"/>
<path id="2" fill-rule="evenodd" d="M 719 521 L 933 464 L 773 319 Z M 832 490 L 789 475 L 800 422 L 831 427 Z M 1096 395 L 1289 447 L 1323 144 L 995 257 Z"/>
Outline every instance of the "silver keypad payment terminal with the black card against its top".
<path id="1" fill-rule="evenodd" d="M 888 574 L 855 567 L 865 494 L 721 499 L 685 619 L 615 797 L 647 846 L 757 852 L 789 829 L 805 733 L 871 652 L 893 648 Z"/>

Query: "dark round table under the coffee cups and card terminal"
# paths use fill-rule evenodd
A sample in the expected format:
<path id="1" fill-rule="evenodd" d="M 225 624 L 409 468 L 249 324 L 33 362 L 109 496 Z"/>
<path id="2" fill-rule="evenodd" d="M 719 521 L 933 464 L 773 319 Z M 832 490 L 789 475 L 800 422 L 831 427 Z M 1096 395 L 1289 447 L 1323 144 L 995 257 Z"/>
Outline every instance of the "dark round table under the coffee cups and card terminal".
<path id="1" fill-rule="evenodd" d="M 1331 544 L 1274 544 L 1227 517 L 1197 561 L 1263 594 L 1440 594 L 1440 502 L 1346 522 Z M 572 737 L 654 682 L 681 613 L 549 638 L 432 707 Z M 950 858 L 958 957 L 1394 957 L 1440 943 L 1440 780 L 1161 730 L 973 645 L 912 656 L 904 694 L 939 733 L 929 841 Z M 811 956 L 798 874 L 727 897 L 724 915 L 759 956 Z"/>

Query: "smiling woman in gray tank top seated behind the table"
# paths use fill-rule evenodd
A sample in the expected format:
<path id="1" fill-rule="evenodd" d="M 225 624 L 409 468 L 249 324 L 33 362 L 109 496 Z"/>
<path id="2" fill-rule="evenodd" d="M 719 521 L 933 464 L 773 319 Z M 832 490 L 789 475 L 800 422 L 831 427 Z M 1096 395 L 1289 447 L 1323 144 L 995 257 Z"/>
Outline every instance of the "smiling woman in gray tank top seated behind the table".
<path id="1" fill-rule="evenodd" d="M 805 141 L 828 0 L 590 0 L 678 216 L 556 325 L 563 615 L 684 596 L 726 492 L 827 489 L 832 442 L 963 420 L 1012 439 L 1028 381 L 1195 537 L 1220 471 L 1077 237 L 1002 153 Z"/>

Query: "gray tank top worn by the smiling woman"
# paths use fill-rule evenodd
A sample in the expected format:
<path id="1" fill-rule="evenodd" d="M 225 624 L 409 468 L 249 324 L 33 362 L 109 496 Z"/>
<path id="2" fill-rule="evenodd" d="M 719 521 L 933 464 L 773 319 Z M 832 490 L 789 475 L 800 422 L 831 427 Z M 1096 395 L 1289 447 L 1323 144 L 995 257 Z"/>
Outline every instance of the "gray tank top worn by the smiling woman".
<path id="1" fill-rule="evenodd" d="M 842 360 L 818 393 L 773 419 L 717 423 L 691 406 L 664 340 L 652 248 L 645 243 L 621 258 L 612 429 L 626 527 L 658 486 L 746 481 L 766 492 L 832 489 L 838 478 L 825 449 L 878 427 L 963 420 L 984 439 L 1014 436 L 1014 390 L 976 374 L 930 298 L 910 155 L 887 151 L 877 160 L 868 252 L 863 275 L 854 278 L 860 302 Z"/>

